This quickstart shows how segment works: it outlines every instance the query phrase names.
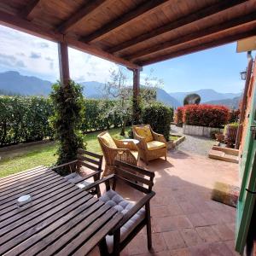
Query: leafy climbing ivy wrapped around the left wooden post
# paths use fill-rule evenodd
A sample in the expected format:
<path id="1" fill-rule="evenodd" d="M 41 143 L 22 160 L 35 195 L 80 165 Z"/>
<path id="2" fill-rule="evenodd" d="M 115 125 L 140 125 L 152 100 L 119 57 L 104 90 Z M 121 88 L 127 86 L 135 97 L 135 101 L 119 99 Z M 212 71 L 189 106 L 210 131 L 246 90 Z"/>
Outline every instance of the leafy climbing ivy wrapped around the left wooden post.
<path id="1" fill-rule="evenodd" d="M 84 117 L 84 98 L 82 87 L 69 81 L 65 86 L 53 84 L 50 98 L 53 102 L 54 115 L 51 118 L 55 128 L 58 145 L 57 165 L 76 160 L 78 148 L 84 148 L 80 127 Z M 61 170 L 61 175 L 67 174 Z"/>

